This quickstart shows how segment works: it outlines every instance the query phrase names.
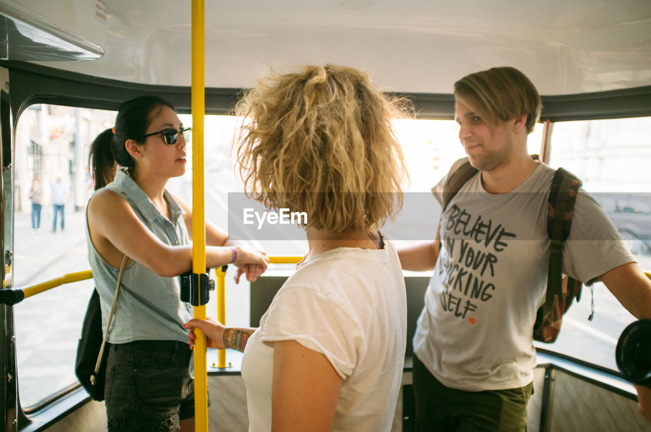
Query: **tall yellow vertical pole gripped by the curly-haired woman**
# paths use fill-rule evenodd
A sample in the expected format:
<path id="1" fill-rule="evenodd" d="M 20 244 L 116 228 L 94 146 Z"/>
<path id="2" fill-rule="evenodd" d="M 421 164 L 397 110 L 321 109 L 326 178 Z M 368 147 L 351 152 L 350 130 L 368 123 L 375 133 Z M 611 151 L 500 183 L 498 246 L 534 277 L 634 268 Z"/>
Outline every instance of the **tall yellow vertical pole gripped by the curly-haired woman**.
<path id="1" fill-rule="evenodd" d="M 204 0 L 192 0 L 192 272 L 206 273 L 204 223 L 205 45 Z M 195 306 L 194 317 L 206 318 L 206 305 Z M 208 432 L 208 373 L 206 337 L 195 329 L 195 431 Z"/>

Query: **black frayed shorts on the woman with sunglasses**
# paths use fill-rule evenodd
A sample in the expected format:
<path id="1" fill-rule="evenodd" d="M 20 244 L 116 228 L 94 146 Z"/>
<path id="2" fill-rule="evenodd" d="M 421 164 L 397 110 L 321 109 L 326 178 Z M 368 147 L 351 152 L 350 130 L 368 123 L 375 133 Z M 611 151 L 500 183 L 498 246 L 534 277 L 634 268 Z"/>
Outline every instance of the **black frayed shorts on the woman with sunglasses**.
<path id="1" fill-rule="evenodd" d="M 191 351 L 183 342 L 110 344 L 106 366 L 107 427 L 113 431 L 177 431 L 195 415 Z"/>

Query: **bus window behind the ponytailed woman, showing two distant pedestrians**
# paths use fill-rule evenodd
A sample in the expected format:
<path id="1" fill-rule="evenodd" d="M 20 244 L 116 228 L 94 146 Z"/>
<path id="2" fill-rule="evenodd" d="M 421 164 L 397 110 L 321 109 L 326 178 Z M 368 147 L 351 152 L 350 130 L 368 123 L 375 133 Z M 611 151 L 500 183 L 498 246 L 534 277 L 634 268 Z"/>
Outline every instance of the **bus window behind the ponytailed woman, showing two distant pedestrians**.
<path id="1" fill-rule="evenodd" d="M 57 105 L 32 105 L 20 116 L 14 164 L 16 288 L 89 269 L 84 210 L 93 186 L 88 148 L 114 119 L 109 111 Z M 61 204 L 57 195 L 64 201 L 55 216 L 54 204 Z M 14 307 L 23 408 L 77 382 L 74 359 L 91 289 L 92 280 L 64 285 Z"/>

